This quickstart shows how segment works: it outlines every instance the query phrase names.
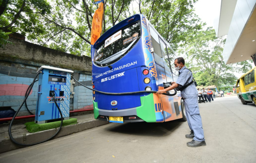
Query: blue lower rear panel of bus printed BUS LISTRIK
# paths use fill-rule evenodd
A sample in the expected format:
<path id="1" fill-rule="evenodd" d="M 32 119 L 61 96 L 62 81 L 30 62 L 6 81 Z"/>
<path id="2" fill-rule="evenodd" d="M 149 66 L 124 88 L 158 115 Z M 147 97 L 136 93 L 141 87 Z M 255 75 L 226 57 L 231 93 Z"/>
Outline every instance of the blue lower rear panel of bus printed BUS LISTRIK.
<path id="1" fill-rule="evenodd" d="M 105 78 L 95 81 L 94 85 L 97 86 L 98 90 L 103 92 L 119 93 L 139 91 L 137 70 L 136 68 L 133 68 L 110 76 L 106 76 Z M 140 94 L 106 95 L 97 93 L 95 95 L 95 99 L 100 99 L 98 100 L 98 108 L 105 110 L 128 109 L 141 105 Z M 117 105 L 112 106 L 112 101 L 117 101 Z"/>

